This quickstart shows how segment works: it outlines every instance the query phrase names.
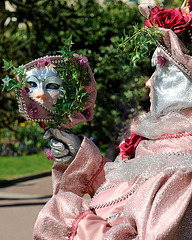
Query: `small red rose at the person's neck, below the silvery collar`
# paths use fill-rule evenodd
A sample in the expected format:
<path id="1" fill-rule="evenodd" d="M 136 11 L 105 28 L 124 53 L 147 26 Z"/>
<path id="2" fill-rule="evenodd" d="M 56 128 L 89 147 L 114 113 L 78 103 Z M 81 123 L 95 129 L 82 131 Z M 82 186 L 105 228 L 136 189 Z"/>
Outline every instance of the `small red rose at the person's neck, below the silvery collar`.
<path id="1" fill-rule="evenodd" d="M 130 138 L 125 139 L 125 142 L 119 146 L 122 159 L 134 157 L 137 145 L 144 139 L 146 138 L 136 135 L 135 133 L 132 133 Z"/>

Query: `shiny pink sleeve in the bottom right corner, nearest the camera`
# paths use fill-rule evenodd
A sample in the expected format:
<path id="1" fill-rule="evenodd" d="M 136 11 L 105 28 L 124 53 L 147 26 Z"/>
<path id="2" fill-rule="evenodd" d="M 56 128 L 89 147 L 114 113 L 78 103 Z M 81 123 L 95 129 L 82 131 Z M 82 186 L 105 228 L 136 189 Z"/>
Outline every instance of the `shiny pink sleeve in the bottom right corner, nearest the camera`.
<path id="1" fill-rule="evenodd" d="M 148 179 L 125 204 L 124 223 L 112 227 L 104 239 L 190 239 L 191 179 L 192 173 L 182 171 Z"/>

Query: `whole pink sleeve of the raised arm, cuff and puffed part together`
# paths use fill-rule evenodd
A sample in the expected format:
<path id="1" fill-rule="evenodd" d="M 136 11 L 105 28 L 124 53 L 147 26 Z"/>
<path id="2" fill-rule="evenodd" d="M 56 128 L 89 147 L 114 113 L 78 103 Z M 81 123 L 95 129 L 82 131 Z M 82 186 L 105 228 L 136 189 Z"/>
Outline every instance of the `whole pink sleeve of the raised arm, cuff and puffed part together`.
<path id="1" fill-rule="evenodd" d="M 94 143 L 84 138 L 69 166 L 54 164 L 54 194 L 39 213 L 34 227 L 35 240 L 74 239 L 78 229 L 80 238 L 77 239 L 93 240 L 92 234 L 98 234 L 99 238 L 95 239 L 102 239 L 109 224 L 91 211 L 80 196 L 94 193 L 104 181 L 106 161 Z"/>

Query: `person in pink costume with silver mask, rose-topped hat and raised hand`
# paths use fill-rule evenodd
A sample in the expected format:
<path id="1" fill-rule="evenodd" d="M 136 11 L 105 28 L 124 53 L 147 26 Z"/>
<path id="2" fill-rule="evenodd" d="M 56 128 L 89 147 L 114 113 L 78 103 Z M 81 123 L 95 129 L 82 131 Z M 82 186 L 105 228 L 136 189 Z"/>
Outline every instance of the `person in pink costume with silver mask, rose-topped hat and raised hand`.
<path id="1" fill-rule="evenodd" d="M 192 239 L 192 57 L 177 35 L 192 40 L 191 9 L 139 10 L 146 26 L 161 31 L 147 82 L 151 110 L 133 123 L 115 162 L 86 137 L 46 132 L 63 164 L 53 165 L 53 196 L 39 213 L 35 240 Z M 94 195 L 89 204 L 86 193 Z"/>

